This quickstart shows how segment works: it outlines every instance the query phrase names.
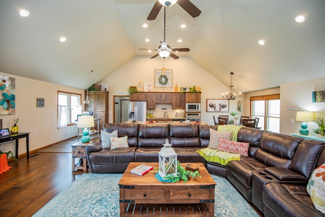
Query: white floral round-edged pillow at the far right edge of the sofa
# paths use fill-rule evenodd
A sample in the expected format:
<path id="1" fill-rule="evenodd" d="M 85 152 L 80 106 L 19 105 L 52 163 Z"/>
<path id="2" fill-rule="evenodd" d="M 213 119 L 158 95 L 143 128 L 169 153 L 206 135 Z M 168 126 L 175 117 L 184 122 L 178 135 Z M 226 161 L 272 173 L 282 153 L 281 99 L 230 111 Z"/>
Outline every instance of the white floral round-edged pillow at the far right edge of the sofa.
<path id="1" fill-rule="evenodd" d="M 325 214 L 325 164 L 316 168 L 311 174 L 307 192 L 315 208 Z"/>

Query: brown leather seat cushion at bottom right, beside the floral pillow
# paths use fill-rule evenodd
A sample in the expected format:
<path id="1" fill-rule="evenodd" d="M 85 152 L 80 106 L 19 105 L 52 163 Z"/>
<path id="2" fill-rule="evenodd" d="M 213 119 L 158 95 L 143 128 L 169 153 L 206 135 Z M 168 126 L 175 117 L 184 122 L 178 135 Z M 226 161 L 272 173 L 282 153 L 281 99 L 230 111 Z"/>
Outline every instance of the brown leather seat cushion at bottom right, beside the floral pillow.
<path id="1" fill-rule="evenodd" d="M 265 185 L 262 198 L 276 216 L 324 216 L 315 209 L 303 185 L 270 182 Z"/>

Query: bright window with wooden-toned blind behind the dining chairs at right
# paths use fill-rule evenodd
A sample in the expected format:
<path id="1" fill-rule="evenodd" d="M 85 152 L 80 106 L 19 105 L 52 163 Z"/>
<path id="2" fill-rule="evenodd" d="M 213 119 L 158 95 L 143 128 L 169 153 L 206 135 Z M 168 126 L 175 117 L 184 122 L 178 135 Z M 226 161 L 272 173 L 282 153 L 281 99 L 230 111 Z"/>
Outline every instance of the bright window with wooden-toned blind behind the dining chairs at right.
<path id="1" fill-rule="evenodd" d="M 280 133 L 280 94 L 250 97 L 252 118 L 258 117 L 262 130 Z"/>

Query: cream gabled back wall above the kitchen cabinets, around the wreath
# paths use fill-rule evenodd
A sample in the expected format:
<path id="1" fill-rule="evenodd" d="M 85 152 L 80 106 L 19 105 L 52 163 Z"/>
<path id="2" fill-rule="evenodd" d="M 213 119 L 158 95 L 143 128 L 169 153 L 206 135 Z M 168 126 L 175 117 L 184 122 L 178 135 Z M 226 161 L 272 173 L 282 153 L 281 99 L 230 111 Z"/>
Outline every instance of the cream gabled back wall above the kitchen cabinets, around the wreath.
<path id="1" fill-rule="evenodd" d="M 173 87 L 171 88 L 155 88 L 154 87 L 154 70 L 163 68 L 163 59 L 150 59 L 148 56 L 136 56 L 128 63 L 116 70 L 113 74 L 105 78 L 99 83 L 109 83 L 109 110 L 113 111 L 112 98 L 117 95 L 118 91 L 126 91 L 129 86 L 137 86 L 139 81 L 143 83 L 151 83 L 152 91 L 173 92 L 177 86 L 202 86 L 202 107 L 201 120 L 214 125 L 213 115 L 228 114 L 225 112 L 206 112 L 207 99 L 221 99 L 222 92 L 226 92 L 229 86 L 225 86 L 210 73 L 196 64 L 191 58 L 181 56 L 179 59 L 167 58 L 165 60 L 165 69 L 173 70 Z M 225 72 L 229 73 L 229 72 Z M 236 88 L 236 84 L 234 84 Z M 238 90 L 239 92 L 240 90 Z M 243 98 L 239 99 L 244 101 Z M 243 108 L 243 103 L 242 103 Z M 230 100 L 229 111 L 237 110 L 237 100 Z M 168 111 L 169 112 L 169 111 Z M 169 112 L 172 113 L 172 112 Z M 109 114 L 109 122 L 113 121 L 113 114 Z"/>

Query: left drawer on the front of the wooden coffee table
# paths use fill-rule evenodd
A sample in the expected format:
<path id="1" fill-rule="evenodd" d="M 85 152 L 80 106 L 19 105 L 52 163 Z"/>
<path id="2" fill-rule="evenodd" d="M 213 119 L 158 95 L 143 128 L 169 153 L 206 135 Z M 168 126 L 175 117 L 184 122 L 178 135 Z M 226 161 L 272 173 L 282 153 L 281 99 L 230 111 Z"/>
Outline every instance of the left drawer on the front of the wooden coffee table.
<path id="1" fill-rule="evenodd" d="M 165 189 L 125 189 L 125 199 L 164 199 Z"/>

